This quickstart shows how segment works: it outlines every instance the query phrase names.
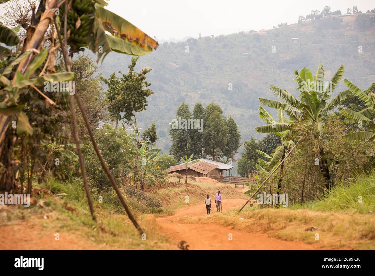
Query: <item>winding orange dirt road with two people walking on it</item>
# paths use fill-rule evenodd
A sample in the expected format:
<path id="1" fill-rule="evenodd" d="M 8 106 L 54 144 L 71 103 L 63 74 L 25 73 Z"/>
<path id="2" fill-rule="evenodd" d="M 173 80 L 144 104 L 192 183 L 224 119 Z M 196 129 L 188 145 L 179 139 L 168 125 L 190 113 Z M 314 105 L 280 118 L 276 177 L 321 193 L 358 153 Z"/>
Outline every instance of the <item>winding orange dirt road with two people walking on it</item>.
<path id="1" fill-rule="evenodd" d="M 239 207 L 246 202 L 244 199 L 227 199 L 223 201 L 224 211 Z M 261 233 L 249 233 L 231 227 L 225 227 L 213 223 L 180 223 L 173 222 L 178 218 L 202 217 L 207 218 L 204 203 L 194 204 L 177 210 L 172 216 L 160 217 L 157 222 L 165 229 L 163 234 L 167 235 L 177 244 L 186 241 L 189 250 L 312 250 L 309 244 L 300 241 L 283 241 L 270 238 Z M 223 216 L 216 212 L 213 202 L 211 205 L 211 216 Z M 232 234 L 233 240 L 229 240 Z"/>

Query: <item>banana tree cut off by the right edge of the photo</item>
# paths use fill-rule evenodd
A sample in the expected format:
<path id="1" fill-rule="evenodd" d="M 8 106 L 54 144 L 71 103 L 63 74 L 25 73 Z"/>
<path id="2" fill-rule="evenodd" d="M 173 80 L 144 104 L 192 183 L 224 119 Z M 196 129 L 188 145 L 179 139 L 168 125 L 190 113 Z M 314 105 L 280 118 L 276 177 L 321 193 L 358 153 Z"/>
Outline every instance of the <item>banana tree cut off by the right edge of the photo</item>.
<path id="1" fill-rule="evenodd" d="M 356 123 L 360 122 L 360 127 L 366 126 L 369 130 L 375 130 L 375 123 L 371 120 L 375 116 L 375 95 L 370 92 L 366 94 L 359 89 L 355 84 L 345 78 L 344 83 L 349 87 L 356 97 L 364 101 L 366 108 L 360 112 L 355 112 L 350 109 L 342 109 L 341 114 L 346 116 L 345 122 Z M 375 139 L 375 133 L 371 131 L 357 131 L 341 136 L 344 141 L 351 140 L 372 140 Z"/>

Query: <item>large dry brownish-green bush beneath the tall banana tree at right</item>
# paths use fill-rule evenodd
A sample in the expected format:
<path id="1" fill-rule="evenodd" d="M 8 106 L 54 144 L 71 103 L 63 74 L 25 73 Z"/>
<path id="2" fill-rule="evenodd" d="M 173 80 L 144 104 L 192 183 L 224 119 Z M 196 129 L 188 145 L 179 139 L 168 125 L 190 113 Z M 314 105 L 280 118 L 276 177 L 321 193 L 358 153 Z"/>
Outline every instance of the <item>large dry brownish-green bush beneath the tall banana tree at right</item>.
<path id="1" fill-rule="evenodd" d="M 289 202 L 313 201 L 325 193 L 325 179 L 319 164 L 327 160 L 333 187 L 342 181 L 353 178 L 359 172 L 371 172 L 375 158 L 372 141 L 342 141 L 340 136 L 348 131 L 347 125 L 335 114 L 324 119 L 326 127 L 320 133 L 316 124 L 296 124 L 295 133 L 303 133 L 293 153 L 285 160 L 284 170 L 279 169 L 270 179 L 263 191 L 276 193 L 279 179 L 282 179 L 281 193 L 288 194 Z M 324 155 L 320 155 L 323 146 Z M 318 162 L 318 163 L 317 163 Z M 259 176 L 260 181 L 264 176 Z M 262 191 L 262 192 L 263 192 Z M 303 198 L 302 198 L 303 191 Z"/>

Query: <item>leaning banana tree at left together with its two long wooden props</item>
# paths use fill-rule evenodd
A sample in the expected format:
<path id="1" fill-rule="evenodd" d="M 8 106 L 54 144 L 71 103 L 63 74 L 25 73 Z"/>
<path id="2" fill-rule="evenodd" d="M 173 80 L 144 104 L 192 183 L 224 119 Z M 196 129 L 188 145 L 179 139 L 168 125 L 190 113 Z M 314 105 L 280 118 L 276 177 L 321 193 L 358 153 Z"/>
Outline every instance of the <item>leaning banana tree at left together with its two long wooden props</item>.
<path id="1" fill-rule="evenodd" d="M 1 3 L 5 2 L 7 2 L 7 0 L 1 0 Z M 154 39 L 147 36 L 128 21 L 105 9 L 106 5 L 108 4 L 103 0 L 41 0 L 37 11 L 35 11 L 35 6 L 32 6 L 33 15 L 30 24 L 32 27 L 27 29 L 25 38 L 22 42 L 11 33 L 13 32 L 12 30 L 1 24 L 0 42 L 4 43 L 9 48 L 15 47 L 20 50 L 19 53 L 17 53 L 18 57 L 14 59 L 13 56 L 9 56 L 9 51 L 6 51 L 3 48 L 0 49 L 1 53 L 7 58 L 6 62 L 9 65 L 6 68 L 6 72 L 0 71 L 0 90 L 2 93 L 1 99 L 3 100 L 0 103 L 0 109 L 2 110 L 0 114 L 0 161 L 5 160 L 5 167 L 11 176 L 1 178 L 0 184 L 3 179 L 10 179 L 7 181 L 15 183 L 13 161 L 9 161 L 13 160 L 14 149 L 12 149 L 12 147 L 14 143 L 10 143 L 12 140 L 9 139 L 10 142 L 7 143 L 7 147 L 9 148 L 6 149 L 6 152 L 9 152 L 10 156 L 2 158 L 3 155 L 1 154 L 1 151 L 5 145 L 5 137 L 12 136 L 17 139 L 17 136 L 22 133 L 26 133 L 25 135 L 30 136 L 33 133 L 34 127 L 37 127 L 34 124 L 35 122 L 32 122 L 32 124 L 28 122 L 26 114 L 28 101 L 26 100 L 21 103 L 20 94 L 25 94 L 27 90 L 35 89 L 40 94 L 39 97 L 44 98 L 48 104 L 51 104 L 52 106 L 55 104 L 54 101 L 46 97 L 46 95 L 41 92 L 42 89 L 37 86 L 41 86 L 40 77 L 43 79 L 45 77 L 48 81 L 51 77 L 53 81 L 72 80 L 74 73 L 71 72 L 70 68 L 68 45 L 70 46 L 71 56 L 73 53 L 82 51 L 84 49 L 83 47 L 86 47 L 98 54 L 98 60 L 103 60 L 111 51 L 132 55 L 143 55 L 150 53 L 152 50 L 156 50 L 158 44 Z M 47 29 L 51 26 L 52 35 L 46 35 Z M 48 55 L 46 55 L 46 52 L 42 49 L 42 42 L 44 41 L 49 42 Z M 22 44 L 22 47 L 17 47 L 17 44 L 19 46 Z M 52 74 L 56 72 L 55 52 L 58 48 L 62 49 L 66 72 L 62 73 L 64 75 L 52 76 Z M 17 60 L 17 63 L 15 60 Z M 13 70 L 13 66 L 15 65 L 17 65 L 17 69 Z M 74 110 L 74 98 L 77 101 L 78 107 L 81 109 L 82 116 L 103 169 L 108 175 L 108 178 L 110 179 L 111 184 L 113 185 L 114 190 L 123 204 L 130 220 L 133 222 L 138 232 L 142 234 L 142 229 L 127 207 L 127 204 L 99 151 L 80 98 L 78 97 L 78 94 L 75 93 L 74 96 L 72 94 L 70 95 L 72 122 L 81 172 L 92 217 L 95 219 L 80 148 Z M 11 116 L 17 120 L 18 133 L 15 134 L 13 133 L 13 128 L 9 127 Z M 32 173 L 33 171 L 31 170 L 31 175 Z M 10 188 L 6 186 L 6 189 Z"/>

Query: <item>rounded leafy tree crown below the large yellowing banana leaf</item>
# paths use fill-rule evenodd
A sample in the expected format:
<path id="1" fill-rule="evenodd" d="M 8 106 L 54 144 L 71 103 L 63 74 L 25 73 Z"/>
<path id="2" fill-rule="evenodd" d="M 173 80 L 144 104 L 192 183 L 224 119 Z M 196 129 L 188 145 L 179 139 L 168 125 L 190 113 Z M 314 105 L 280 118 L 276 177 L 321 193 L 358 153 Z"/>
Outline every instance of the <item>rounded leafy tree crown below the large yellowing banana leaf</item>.
<path id="1" fill-rule="evenodd" d="M 152 69 L 143 68 L 140 73 L 134 71 L 138 59 L 139 57 L 132 57 L 132 64 L 128 66 L 129 72 L 127 74 L 119 72 L 121 78 L 116 77 L 115 73 L 111 74 L 109 79 L 102 77 L 104 83 L 108 85 L 105 96 L 109 104 L 110 116 L 116 121 L 116 128 L 118 120 L 130 123 L 136 112 L 145 110 L 146 97 L 154 93 L 147 88 L 151 83 L 146 81 L 146 74 Z"/>

